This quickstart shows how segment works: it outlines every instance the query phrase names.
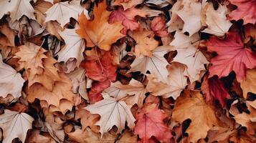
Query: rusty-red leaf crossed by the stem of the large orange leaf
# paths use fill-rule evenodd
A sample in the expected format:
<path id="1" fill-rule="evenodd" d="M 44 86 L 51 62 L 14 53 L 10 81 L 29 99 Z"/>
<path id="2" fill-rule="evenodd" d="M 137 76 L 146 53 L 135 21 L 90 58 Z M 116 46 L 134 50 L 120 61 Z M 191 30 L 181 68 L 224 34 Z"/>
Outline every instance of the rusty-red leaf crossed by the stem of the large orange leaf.
<path id="1" fill-rule="evenodd" d="M 88 98 L 91 103 L 95 103 L 103 99 L 100 94 L 103 90 L 110 87 L 110 82 L 114 82 L 116 78 L 117 65 L 113 64 L 113 57 L 109 51 L 106 51 L 100 61 L 84 61 L 81 66 L 85 68 L 86 76 L 93 79 L 93 86 L 89 92 Z"/>

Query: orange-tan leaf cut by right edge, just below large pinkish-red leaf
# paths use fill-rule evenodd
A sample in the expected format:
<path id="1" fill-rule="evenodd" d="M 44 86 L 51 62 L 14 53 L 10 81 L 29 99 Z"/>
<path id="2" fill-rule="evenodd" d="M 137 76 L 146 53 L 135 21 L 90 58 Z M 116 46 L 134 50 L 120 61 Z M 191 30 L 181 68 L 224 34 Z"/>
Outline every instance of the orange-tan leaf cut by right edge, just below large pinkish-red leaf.
<path id="1" fill-rule="evenodd" d="M 247 69 L 246 78 L 241 82 L 242 95 L 245 99 L 247 99 L 248 92 L 256 94 L 255 80 L 256 80 L 256 70 Z"/>

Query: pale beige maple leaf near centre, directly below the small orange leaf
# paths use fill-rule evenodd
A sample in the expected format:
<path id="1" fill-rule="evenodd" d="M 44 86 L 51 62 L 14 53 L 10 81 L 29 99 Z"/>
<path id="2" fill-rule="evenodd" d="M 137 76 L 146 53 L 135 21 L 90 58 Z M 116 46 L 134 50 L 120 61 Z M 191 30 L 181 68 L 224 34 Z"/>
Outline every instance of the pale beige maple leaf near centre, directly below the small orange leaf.
<path id="1" fill-rule="evenodd" d="M 163 57 L 170 50 L 169 46 L 158 46 L 152 51 L 152 56 L 138 56 L 131 64 L 130 71 L 141 71 L 146 74 L 150 71 L 151 74 L 155 74 L 159 80 L 167 82 L 168 70 L 166 66 L 168 61 Z"/>

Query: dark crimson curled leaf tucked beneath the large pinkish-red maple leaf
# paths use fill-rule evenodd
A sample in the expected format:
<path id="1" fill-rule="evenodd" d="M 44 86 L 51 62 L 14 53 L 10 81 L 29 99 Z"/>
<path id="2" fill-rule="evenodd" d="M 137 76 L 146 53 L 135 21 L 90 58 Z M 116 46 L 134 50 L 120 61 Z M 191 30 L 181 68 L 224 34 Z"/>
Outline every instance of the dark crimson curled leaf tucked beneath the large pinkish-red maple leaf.
<path id="1" fill-rule="evenodd" d="M 202 83 L 202 92 L 206 95 L 206 101 L 211 103 L 213 99 L 219 100 L 222 107 L 225 106 L 227 99 L 230 97 L 227 88 L 217 76 L 204 77 L 204 82 Z"/>

